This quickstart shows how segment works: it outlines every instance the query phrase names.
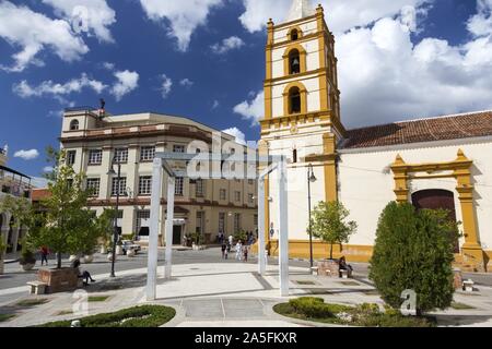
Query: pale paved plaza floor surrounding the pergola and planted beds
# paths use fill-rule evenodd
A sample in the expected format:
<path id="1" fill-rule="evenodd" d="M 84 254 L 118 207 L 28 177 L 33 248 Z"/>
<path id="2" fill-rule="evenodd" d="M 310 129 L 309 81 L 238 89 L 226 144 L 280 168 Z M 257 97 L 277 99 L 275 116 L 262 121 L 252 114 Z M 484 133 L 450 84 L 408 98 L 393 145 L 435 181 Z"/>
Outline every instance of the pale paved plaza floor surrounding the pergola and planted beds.
<path id="1" fill-rule="evenodd" d="M 162 254 L 162 253 L 161 253 Z M 117 277 L 108 278 L 109 263 L 97 256 L 94 264 L 83 265 L 97 280 L 84 291 L 46 296 L 28 296 L 26 278 L 19 264 L 8 264 L 0 277 L 0 314 L 15 314 L 0 326 L 32 326 L 46 322 L 74 318 L 77 311 L 89 306 L 87 314 L 113 312 L 145 302 L 145 254 L 138 258 L 121 257 L 117 263 Z M 249 263 L 234 260 L 221 261 L 216 249 L 208 251 L 176 251 L 173 278 L 164 280 L 163 261 L 160 262 L 156 304 L 176 309 L 176 317 L 165 326 L 178 327 L 289 327 L 315 326 L 312 323 L 286 318 L 276 314 L 272 306 L 284 302 L 279 291 L 276 260 L 270 258 L 267 274 L 257 273 L 256 260 Z M 66 262 L 67 263 L 67 262 Z M 291 261 L 290 297 L 316 296 L 327 302 L 360 304 L 364 302 L 383 305 L 373 285 L 367 279 L 367 266 L 355 264 L 353 279 L 338 279 L 309 275 L 308 264 Z M 17 269 L 16 272 L 14 272 Z M 489 280 L 492 275 L 481 275 Z M 477 281 L 472 293 L 458 291 L 455 301 L 468 305 L 467 310 L 447 310 L 435 313 L 443 326 L 492 326 L 492 287 Z M 86 291 L 86 292 L 85 292 Z M 107 296 L 102 302 L 84 302 L 87 297 Z M 46 303 L 21 306 L 20 300 L 42 298 Z M 317 324 L 316 326 L 332 326 Z"/>

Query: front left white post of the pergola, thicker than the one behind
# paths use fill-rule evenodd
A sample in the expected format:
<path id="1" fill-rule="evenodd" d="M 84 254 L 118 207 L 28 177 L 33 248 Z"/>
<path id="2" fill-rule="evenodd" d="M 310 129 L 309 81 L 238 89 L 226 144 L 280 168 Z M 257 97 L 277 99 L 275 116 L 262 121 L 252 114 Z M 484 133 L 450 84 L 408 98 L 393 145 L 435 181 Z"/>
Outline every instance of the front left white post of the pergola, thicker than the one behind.
<path id="1" fill-rule="evenodd" d="M 147 300 L 155 300 L 157 285 L 157 245 L 159 245 L 159 216 L 161 210 L 162 189 L 162 159 L 155 158 L 152 172 L 152 197 L 151 197 L 151 224 L 149 234 L 149 256 L 147 272 Z"/>

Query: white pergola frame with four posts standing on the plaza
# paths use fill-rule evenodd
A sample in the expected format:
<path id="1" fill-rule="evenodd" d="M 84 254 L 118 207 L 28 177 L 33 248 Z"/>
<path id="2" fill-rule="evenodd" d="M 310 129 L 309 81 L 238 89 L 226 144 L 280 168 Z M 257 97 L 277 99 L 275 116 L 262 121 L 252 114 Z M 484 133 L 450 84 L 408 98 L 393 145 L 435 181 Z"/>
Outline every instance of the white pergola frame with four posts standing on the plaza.
<path id="1" fill-rule="evenodd" d="M 286 159 L 284 156 L 256 156 L 251 160 L 249 155 L 230 155 L 230 154 L 183 154 L 183 153 L 156 153 L 153 161 L 152 173 L 152 196 L 151 196 L 151 225 L 149 236 L 149 262 L 147 276 L 147 300 L 156 299 L 157 286 L 157 256 L 159 256 L 159 227 L 161 210 L 161 192 L 163 174 L 167 174 L 167 215 L 165 221 L 165 268 L 164 278 L 172 277 L 173 258 L 173 219 L 174 219 L 174 197 L 176 178 L 191 178 L 187 171 L 175 170 L 169 161 L 208 161 L 212 164 L 212 171 L 207 176 L 201 173 L 198 178 L 221 179 L 222 165 L 224 161 L 243 163 L 254 166 L 255 171 L 248 172 L 247 179 L 256 178 L 258 180 L 258 273 L 263 276 L 267 268 L 267 256 L 265 254 L 265 182 L 268 176 L 278 171 L 279 181 L 279 201 L 277 208 L 279 210 L 279 277 L 280 296 L 289 296 L 289 232 L 288 232 L 288 194 L 286 194 Z M 261 164 L 265 169 L 259 171 Z M 195 177 L 195 176 L 194 176 Z M 253 178 L 251 178 L 253 177 Z M 234 179 L 226 178 L 226 179 Z"/>

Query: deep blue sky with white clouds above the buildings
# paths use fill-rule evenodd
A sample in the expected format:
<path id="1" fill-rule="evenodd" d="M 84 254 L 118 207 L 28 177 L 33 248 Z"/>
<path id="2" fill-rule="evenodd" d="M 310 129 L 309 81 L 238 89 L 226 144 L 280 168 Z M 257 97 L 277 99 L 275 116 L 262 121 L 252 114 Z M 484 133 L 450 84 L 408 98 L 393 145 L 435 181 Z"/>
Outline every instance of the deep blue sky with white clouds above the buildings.
<path id="1" fill-rule="evenodd" d="M 99 97 L 115 115 L 186 116 L 257 140 L 261 25 L 281 21 L 290 3 L 0 0 L 0 144 L 9 144 L 9 165 L 40 176 L 45 147 L 58 145 L 60 111 Z M 321 3 L 349 128 L 492 108 L 491 0 Z M 82 32 L 69 24 L 77 5 L 90 13 Z"/>

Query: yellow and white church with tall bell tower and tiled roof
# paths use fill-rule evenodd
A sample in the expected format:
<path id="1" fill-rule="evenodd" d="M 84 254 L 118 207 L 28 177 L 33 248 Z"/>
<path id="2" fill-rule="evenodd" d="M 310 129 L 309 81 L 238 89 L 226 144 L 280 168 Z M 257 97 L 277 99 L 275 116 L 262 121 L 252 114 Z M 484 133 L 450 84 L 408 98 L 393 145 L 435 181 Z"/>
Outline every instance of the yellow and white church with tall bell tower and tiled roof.
<path id="1" fill-rule="evenodd" d="M 317 179 L 311 183 L 313 206 L 338 200 L 359 226 L 342 251 L 335 246 L 336 256 L 367 262 L 385 206 L 411 202 L 449 209 L 461 222 L 456 263 L 491 270 L 492 111 L 347 130 L 335 46 L 324 9 L 308 0 L 294 0 L 284 23 L 268 23 L 259 151 L 288 158 L 290 256 L 309 256 L 312 167 Z M 270 178 L 265 198 L 265 234 L 272 254 L 278 253 L 276 185 Z M 314 257 L 328 255 L 329 245 L 315 240 Z"/>

